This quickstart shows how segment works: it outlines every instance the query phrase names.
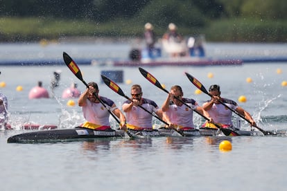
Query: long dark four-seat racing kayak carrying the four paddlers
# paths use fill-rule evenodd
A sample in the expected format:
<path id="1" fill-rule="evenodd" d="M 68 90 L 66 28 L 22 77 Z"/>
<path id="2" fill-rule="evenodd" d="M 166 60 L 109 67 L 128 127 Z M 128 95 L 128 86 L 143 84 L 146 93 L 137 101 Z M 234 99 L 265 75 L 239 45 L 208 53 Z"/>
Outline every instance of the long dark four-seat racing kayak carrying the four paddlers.
<path id="1" fill-rule="evenodd" d="M 235 130 L 237 136 L 263 136 L 261 131 Z M 147 138 L 158 136 L 224 136 L 219 129 L 200 128 L 184 131 L 175 131 L 161 127 L 159 129 L 133 130 L 128 129 L 128 135 L 131 138 Z M 89 138 L 125 138 L 125 131 L 109 129 L 105 131 L 88 129 L 85 127 L 76 127 L 73 129 L 49 129 L 42 131 L 31 131 L 23 134 L 10 136 L 7 143 L 46 143 L 57 141 L 86 140 Z"/>

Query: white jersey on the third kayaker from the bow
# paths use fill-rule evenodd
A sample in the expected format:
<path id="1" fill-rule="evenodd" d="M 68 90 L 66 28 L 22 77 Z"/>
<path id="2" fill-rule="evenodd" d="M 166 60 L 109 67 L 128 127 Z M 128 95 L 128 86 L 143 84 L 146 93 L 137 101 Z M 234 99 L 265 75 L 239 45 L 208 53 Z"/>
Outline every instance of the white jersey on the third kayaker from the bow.
<path id="1" fill-rule="evenodd" d="M 169 117 L 169 120 L 175 125 L 180 125 L 182 127 L 191 127 L 193 126 L 193 109 L 198 107 L 198 103 L 193 99 L 182 98 L 182 101 L 189 105 L 192 109 L 187 107 L 185 104 L 178 106 L 172 101 L 169 102 L 168 110 L 165 112 Z"/>

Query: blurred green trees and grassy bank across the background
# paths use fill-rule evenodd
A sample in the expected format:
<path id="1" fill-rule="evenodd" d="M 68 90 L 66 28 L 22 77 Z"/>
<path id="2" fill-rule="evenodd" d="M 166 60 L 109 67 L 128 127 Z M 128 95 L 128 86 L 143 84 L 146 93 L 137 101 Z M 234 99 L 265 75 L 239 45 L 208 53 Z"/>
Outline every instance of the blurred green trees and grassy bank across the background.
<path id="1" fill-rule="evenodd" d="M 0 39 L 137 37 L 146 22 L 157 34 L 173 22 L 211 41 L 286 42 L 286 8 L 281 0 L 0 0 Z"/>

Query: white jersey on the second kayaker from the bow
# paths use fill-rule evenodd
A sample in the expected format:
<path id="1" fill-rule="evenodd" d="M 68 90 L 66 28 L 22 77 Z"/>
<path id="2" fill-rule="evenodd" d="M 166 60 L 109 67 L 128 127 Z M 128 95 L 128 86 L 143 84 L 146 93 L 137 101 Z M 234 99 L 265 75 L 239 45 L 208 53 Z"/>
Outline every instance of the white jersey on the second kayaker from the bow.
<path id="1" fill-rule="evenodd" d="M 157 104 L 153 100 L 141 98 L 141 101 L 141 107 L 150 111 L 150 113 L 157 112 L 159 110 Z M 123 102 L 123 105 L 125 104 L 130 104 L 130 100 Z M 128 124 L 141 128 L 152 128 L 153 116 L 144 111 L 141 107 L 132 106 L 132 110 L 125 113 Z"/>

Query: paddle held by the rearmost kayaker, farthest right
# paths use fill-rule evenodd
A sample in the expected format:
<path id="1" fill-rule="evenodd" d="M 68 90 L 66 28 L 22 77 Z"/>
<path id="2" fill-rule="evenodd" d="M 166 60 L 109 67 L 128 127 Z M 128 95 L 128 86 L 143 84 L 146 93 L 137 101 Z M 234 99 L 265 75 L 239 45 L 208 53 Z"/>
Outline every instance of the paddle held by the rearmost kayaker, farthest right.
<path id="1" fill-rule="evenodd" d="M 189 80 L 193 83 L 193 85 L 195 85 L 195 87 L 197 87 L 198 89 L 200 89 L 203 93 L 206 93 L 208 96 L 210 96 L 212 98 L 212 95 L 207 91 L 207 89 L 205 89 L 205 87 L 202 85 L 202 83 L 200 83 L 200 81 L 198 81 L 196 78 L 194 78 L 192 75 L 190 75 L 189 73 L 185 73 L 187 78 L 189 78 Z M 238 113 L 238 111 L 230 108 L 227 106 L 227 104 L 225 104 L 224 102 L 218 100 L 218 102 L 220 102 L 220 104 L 223 104 L 225 107 L 227 107 L 228 109 L 230 109 L 232 112 L 236 113 L 238 116 L 240 116 L 241 118 L 243 118 L 244 120 L 246 120 L 247 122 L 249 122 L 250 124 L 252 124 L 252 122 L 250 122 L 250 120 L 248 120 L 247 118 L 245 118 L 244 116 L 241 115 L 241 113 Z M 253 126 L 253 125 L 252 125 Z M 259 129 L 259 131 L 261 131 L 264 135 L 270 135 L 270 134 L 274 134 L 272 131 L 264 131 L 263 129 L 257 127 L 257 126 L 253 126 L 256 127 L 257 129 Z"/>

